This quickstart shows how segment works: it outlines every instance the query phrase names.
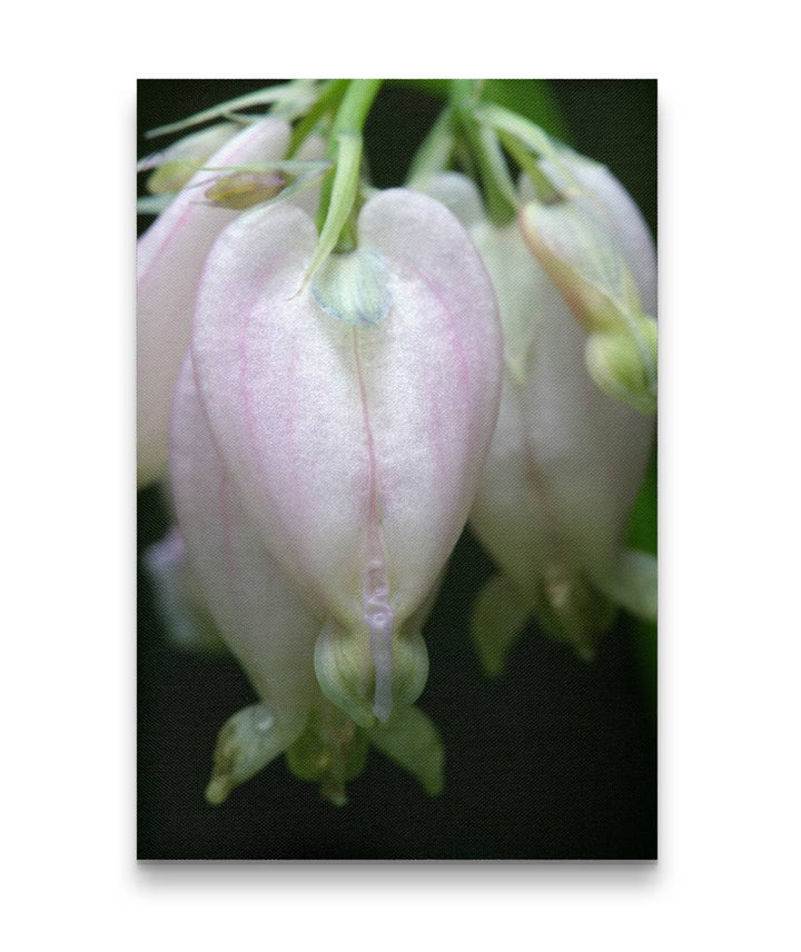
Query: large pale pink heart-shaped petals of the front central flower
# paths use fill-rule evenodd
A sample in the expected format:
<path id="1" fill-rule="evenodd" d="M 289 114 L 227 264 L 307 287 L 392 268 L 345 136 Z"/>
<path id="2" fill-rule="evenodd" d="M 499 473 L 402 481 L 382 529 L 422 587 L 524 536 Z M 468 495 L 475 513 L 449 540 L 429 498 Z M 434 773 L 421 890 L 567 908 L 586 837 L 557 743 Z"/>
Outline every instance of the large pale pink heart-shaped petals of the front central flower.
<path id="1" fill-rule="evenodd" d="M 209 256 L 192 337 L 215 438 L 261 537 L 334 627 L 395 632 L 431 592 L 471 505 L 495 423 L 501 339 L 467 234 L 438 202 L 373 198 L 359 247 L 385 261 L 375 327 L 299 290 L 317 240 L 276 206 Z M 375 653 L 374 653 L 375 660 Z"/>

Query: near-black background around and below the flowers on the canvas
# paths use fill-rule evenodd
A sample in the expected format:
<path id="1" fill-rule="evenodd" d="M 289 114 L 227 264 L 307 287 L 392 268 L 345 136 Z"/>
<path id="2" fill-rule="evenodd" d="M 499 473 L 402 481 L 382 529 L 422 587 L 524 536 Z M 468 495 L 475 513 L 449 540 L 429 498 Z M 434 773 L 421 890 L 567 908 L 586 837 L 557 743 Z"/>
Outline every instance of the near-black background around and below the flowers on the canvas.
<path id="1" fill-rule="evenodd" d="M 154 149 L 144 130 L 264 85 L 141 80 L 139 156 Z M 375 185 L 402 184 L 442 106 L 432 87 L 382 89 L 365 130 Z M 531 98 L 541 100 L 532 106 L 534 118 L 610 166 L 655 234 L 655 81 L 558 80 L 548 90 L 551 100 L 534 90 Z M 653 523 L 652 498 L 644 510 Z M 140 554 L 167 525 L 159 489 L 140 493 Z M 428 797 L 409 774 L 370 751 L 344 807 L 296 780 L 283 758 L 222 806 L 206 804 L 217 732 L 255 697 L 233 658 L 198 657 L 167 644 L 139 572 L 139 857 L 654 857 L 656 727 L 641 629 L 623 616 L 587 665 L 532 624 L 506 672 L 490 682 L 469 644 L 467 618 L 491 572 L 466 530 L 424 632 L 431 674 L 419 706 L 445 745 L 444 793 Z"/>

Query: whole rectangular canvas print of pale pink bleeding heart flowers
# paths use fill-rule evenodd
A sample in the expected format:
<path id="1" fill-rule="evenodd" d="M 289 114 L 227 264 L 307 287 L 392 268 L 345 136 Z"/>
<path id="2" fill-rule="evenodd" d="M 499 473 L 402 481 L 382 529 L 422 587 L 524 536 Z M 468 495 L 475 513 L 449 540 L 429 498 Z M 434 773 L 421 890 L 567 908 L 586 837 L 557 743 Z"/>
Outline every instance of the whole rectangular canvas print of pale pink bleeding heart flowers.
<path id="1" fill-rule="evenodd" d="M 138 122 L 139 857 L 655 859 L 655 81 Z"/>

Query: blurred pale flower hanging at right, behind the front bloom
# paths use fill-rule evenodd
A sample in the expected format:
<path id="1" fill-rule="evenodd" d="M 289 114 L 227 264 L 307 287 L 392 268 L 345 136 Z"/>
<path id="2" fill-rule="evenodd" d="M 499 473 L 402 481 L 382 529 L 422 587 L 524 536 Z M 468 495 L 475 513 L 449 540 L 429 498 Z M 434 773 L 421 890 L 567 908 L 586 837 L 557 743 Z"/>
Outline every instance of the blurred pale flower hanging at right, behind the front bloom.
<path id="1" fill-rule="evenodd" d="M 564 171 L 550 169 L 552 180 L 564 185 L 561 176 L 568 173 L 580 186 L 580 201 L 590 202 L 603 222 L 594 230 L 578 226 L 581 254 L 567 247 L 564 257 L 573 265 L 597 256 L 613 274 L 633 275 L 637 305 L 642 300 L 654 314 L 655 254 L 634 202 L 604 167 L 571 152 L 563 159 Z M 568 291 L 576 269 L 566 268 L 557 285 L 534 257 L 521 228 L 531 225 L 531 209 L 524 208 L 520 221 L 495 226 L 468 179 L 445 173 L 425 188 L 469 228 L 492 276 L 504 329 L 501 411 L 471 513 L 471 526 L 500 572 L 476 599 L 475 644 L 487 671 L 497 673 L 536 615 L 548 634 L 590 658 L 615 605 L 655 614 L 653 559 L 621 547 L 650 456 L 653 419 L 610 396 L 609 387 L 603 391 L 591 376 L 585 329 L 565 299 L 575 305 Z M 604 275 L 602 268 L 600 277 L 592 276 L 601 297 L 609 290 Z M 634 383 L 641 387 L 640 377 Z"/>

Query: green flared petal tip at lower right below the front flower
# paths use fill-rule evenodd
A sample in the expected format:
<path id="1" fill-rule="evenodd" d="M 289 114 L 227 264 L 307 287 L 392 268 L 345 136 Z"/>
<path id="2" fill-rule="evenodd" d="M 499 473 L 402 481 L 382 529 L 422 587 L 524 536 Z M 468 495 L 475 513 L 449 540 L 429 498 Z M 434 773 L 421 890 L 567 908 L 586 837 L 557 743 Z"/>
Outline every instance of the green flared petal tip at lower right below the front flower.
<path id="1" fill-rule="evenodd" d="M 442 793 L 445 751 L 434 722 L 419 707 L 397 711 L 367 734 L 383 754 L 415 776 L 429 796 Z"/>

